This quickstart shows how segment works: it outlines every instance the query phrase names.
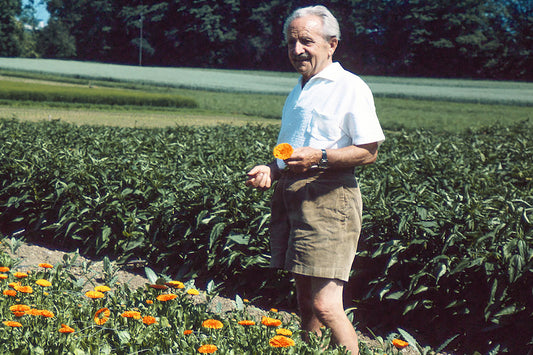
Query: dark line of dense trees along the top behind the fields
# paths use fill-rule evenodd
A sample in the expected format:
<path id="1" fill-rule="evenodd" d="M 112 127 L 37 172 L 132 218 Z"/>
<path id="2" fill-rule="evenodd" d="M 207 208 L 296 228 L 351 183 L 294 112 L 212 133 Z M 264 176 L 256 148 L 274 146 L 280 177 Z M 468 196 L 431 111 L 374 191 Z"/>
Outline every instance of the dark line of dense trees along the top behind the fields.
<path id="1" fill-rule="evenodd" d="M 50 13 L 38 28 L 33 10 Z M 331 0 L 336 59 L 360 74 L 533 79 L 531 0 Z M 291 70 L 296 0 L 2 0 L 0 56 Z"/>

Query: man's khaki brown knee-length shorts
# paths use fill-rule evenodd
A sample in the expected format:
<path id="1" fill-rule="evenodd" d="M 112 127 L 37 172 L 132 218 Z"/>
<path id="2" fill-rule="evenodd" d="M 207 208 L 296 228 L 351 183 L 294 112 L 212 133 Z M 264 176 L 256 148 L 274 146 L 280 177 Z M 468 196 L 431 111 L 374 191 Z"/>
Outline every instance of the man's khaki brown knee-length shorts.
<path id="1" fill-rule="evenodd" d="M 362 210 L 353 171 L 283 173 L 272 197 L 270 266 L 348 281 Z"/>

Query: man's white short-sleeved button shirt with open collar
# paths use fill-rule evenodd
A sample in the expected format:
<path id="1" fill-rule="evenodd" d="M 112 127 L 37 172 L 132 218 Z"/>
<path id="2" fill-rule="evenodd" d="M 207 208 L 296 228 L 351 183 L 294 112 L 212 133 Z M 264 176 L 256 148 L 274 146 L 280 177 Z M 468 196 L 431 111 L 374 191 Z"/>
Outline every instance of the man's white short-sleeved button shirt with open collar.
<path id="1" fill-rule="evenodd" d="M 300 77 L 285 101 L 278 144 L 336 149 L 384 140 L 370 88 L 337 62 L 303 88 Z M 278 159 L 278 166 L 285 163 Z"/>

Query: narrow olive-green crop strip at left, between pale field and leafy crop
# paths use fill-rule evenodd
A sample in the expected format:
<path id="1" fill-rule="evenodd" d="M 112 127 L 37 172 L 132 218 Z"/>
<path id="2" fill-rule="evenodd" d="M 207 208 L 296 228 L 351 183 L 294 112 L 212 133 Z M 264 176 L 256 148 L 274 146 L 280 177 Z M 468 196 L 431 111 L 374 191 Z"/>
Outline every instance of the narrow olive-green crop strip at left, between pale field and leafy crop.
<path id="1" fill-rule="evenodd" d="M 180 108 L 196 108 L 198 106 L 193 99 L 179 95 L 11 81 L 2 81 L 0 99 Z"/>

